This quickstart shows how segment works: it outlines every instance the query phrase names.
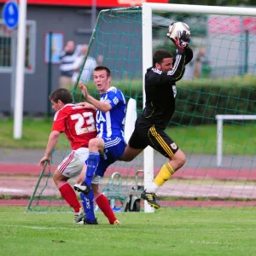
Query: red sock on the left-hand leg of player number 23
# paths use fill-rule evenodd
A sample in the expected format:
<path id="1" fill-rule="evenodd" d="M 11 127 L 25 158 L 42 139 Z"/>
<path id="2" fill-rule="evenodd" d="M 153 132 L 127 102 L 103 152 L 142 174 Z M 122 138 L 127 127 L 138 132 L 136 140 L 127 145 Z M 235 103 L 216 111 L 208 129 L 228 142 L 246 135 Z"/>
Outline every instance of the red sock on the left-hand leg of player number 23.
<path id="1" fill-rule="evenodd" d="M 58 187 L 62 197 L 67 201 L 70 207 L 73 207 L 75 212 L 79 212 L 81 207 L 75 191 L 72 189 L 69 183 L 61 183 Z"/>

